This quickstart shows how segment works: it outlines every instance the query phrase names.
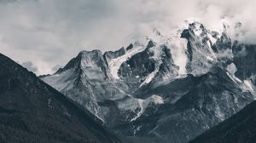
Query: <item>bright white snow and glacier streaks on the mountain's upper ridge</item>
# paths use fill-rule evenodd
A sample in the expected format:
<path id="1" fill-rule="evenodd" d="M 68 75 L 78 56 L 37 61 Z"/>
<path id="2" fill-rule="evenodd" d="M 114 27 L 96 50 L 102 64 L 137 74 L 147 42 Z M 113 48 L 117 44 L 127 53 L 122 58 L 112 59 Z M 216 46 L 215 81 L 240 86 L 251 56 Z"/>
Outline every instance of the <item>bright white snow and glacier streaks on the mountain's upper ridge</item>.
<path id="1" fill-rule="evenodd" d="M 118 71 L 121 64 L 125 62 L 125 60 L 128 60 L 129 58 L 131 58 L 131 56 L 133 56 L 134 54 L 137 54 L 138 52 L 142 52 L 147 47 L 148 41 L 150 39 L 154 41 L 154 43 L 156 43 L 156 46 L 150 49 L 150 50 L 154 50 L 154 56 L 152 57 L 154 58 L 154 60 L 160 59 L 160 53 L 162 52 L 159 48 L 160 45 L 166 45 L 166 47 L 171 49 L 171 54 L 172 54 L 172 59 L 174 61 L 174 64 L 179 66 L 178 74 L 179 75 L 187 74 L 186 65 L 188 62 L 188 56 L 186 54 L 186 51 L 187 51 L 188 42 L 187 42 L 187 39 L 181 38 L 180 34 L 183 31 L 183 29 L 187 29 L 188 25 L 191 23 L 195 23 L 195 27 L 193 31 L 195 32 L 196 37 L 198 37 L 201 40 L 205 37 L 208 37 L 208 41 L 207 41 L 208 46 L 205 47 L 203 51 L 201 51 L 200 49 L 196 49 L 197 53 L 202 54 L 202 56 L 204 56 L 204 58 L 207 59 L 208 61 L 217 60 L 217 56 L 212 50 L 212 45 L 217 42 L 217 37 L 219 36 L 219 34 L 217 34 L 217 37 L 213 37 L 212 34 L 214 33 L 212 33 L 207 29 L 206 29 L 207 33 L 206 34 L 203 33 L 204 29 L 201 27 L 201 23 L 196 21 L 198 20 L 196 20 L 195 18 L 193 19 L 191 18 L 191 20 L 188 20 L 187 23 L 185 23 L 185 26 L 173 27 L 172 33 L 170 33 L 171 35 L 168 35 L 168 36 L 161 35 L 159 31 L 154 30 L 154 33 L 146 38 L 147 39 L 146 43 L 144 42 L 140 44 L 135 43 L 137 44 L 137 46 L 135 46 L 131 50 L 128 50 L 126 54 L 116 59 L 110 60 L 108 63 L 110 74 L 112 75 L 113 78 L 119 79 Z M 221 23 L 224 23 L 224 22 L 225 21 L 221 21 Z M 220 27 L 221 27 L 220 31 L 224 31 L 223 24 L 220 25 Z M 208 55 L 205 55 L 205 52 L 207 52 Z M 154 72 L 150 73 L 140 86 L 150 83 L 150 81 L 154 78 L 155 74 L 158 72 L 157 70 L 158 69 L 156 68 Z"/>

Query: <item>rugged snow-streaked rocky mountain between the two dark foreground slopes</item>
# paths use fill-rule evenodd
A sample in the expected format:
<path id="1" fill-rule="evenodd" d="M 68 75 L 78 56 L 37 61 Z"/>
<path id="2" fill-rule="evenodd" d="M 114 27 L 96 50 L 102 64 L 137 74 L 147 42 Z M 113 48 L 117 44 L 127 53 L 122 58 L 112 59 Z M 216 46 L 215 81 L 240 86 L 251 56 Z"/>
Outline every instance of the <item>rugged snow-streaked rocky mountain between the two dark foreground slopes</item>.
<path id="1" fill-rule="evenodd" d="M 254 100 L 255 72 L 226 28 L 195 22 L 171 36 L 157 31 L 114 52 L 83 51 L 41 78 L 118 134 L 185 142 Z"/>

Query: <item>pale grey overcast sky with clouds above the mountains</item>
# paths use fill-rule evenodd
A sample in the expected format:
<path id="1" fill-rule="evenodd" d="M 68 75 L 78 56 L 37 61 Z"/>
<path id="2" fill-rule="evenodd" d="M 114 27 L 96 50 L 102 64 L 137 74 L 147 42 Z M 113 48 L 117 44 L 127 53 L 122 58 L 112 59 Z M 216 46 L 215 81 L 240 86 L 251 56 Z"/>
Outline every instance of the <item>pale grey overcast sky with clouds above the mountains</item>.
<path id="1" fill-rule="evenodd" d="M 51 73 L 80 50 L 115 50 L 183 20 L 208 29 L 222 18 L 241 21 L 255 43 L 255 0 L 0 0 L 0 52 L 39 74 Z"/>

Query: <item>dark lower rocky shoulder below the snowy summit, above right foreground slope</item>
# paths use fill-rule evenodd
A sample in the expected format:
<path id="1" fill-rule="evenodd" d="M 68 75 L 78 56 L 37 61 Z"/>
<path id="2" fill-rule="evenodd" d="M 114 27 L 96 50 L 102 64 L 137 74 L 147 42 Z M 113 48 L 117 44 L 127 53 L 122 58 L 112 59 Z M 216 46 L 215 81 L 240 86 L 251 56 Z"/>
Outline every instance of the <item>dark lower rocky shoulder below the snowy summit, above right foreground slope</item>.
<path id="1" fill-rule="evenodd" d="M 214 67 L 200 77 L 189 75 L 157 88 L 144 89 L 144 96 L 159 95 L 163 102 L 143 109 L 143 114 L 129 125 L 135 127 L 134 134 L 138 136 L 186 142 L 253 100 L 253 95 L 241 86 L 223 69 Z M 127 134 L 133 129 L 127 130 Z"/>

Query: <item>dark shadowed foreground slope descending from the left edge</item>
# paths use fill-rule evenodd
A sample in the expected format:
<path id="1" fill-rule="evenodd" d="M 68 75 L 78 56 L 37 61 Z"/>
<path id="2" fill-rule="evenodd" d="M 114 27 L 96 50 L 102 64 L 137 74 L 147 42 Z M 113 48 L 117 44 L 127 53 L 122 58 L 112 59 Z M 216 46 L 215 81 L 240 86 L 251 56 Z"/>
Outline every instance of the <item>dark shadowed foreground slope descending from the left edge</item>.
<path id="1" fill-rule="evenodd" d="M 121 142 L 96 117 L 0 54 L 1 143 Z"/>

